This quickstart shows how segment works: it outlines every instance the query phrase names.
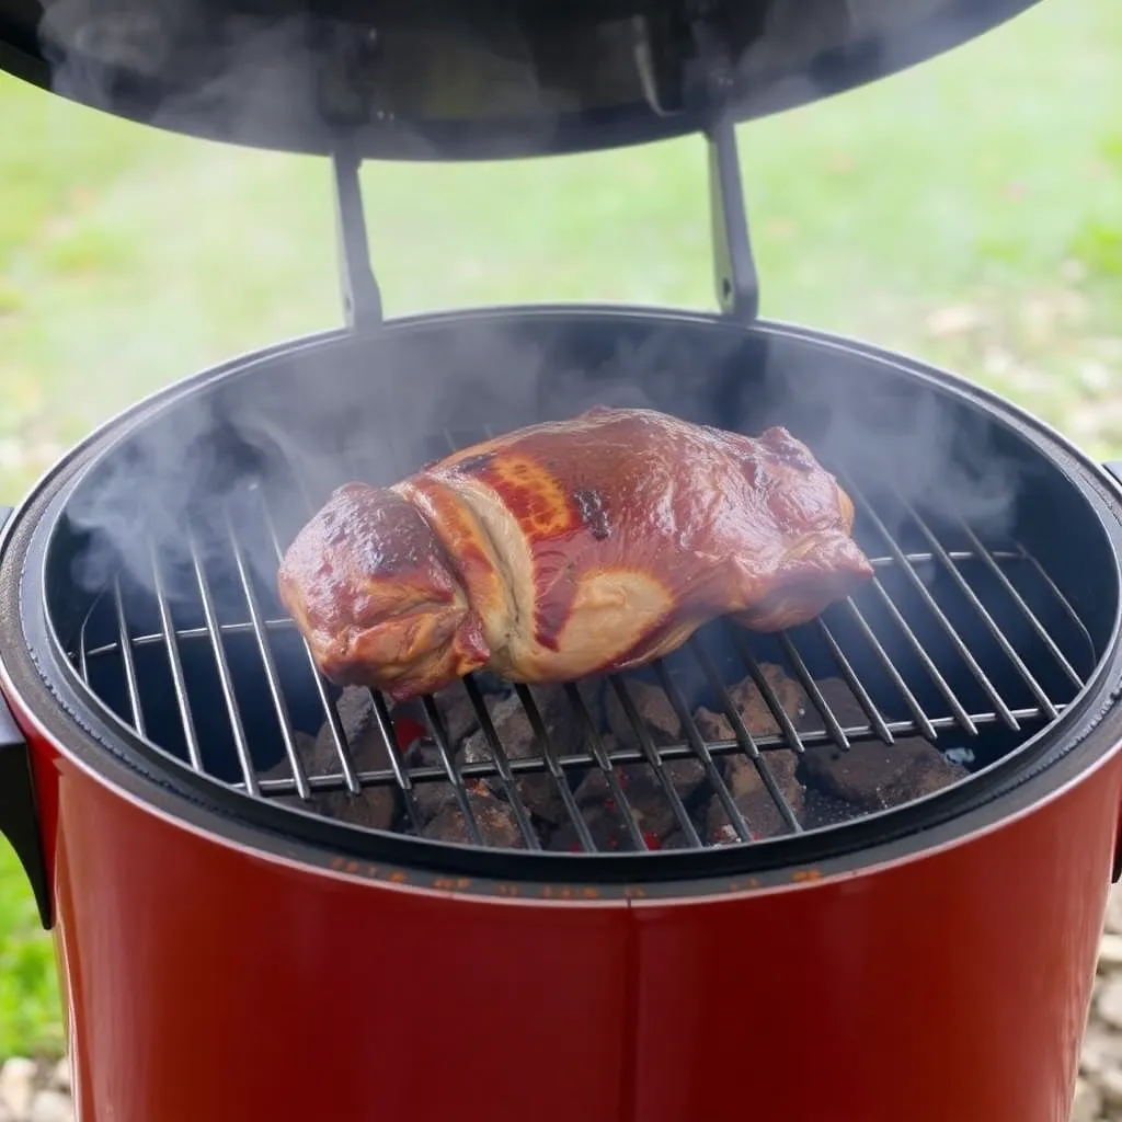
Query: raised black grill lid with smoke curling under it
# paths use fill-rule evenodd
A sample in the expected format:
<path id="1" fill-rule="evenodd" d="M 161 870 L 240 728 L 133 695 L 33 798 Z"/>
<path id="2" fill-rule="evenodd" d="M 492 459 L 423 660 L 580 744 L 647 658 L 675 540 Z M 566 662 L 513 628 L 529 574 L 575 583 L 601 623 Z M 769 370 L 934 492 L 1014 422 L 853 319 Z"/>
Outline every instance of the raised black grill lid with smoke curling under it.
<path id="1" fill-rule="evenodd" d="M 606 148 L 828 96 L 1036 0 L 0 0 L 0 67 L 182 132 L 362 156 Z"/>

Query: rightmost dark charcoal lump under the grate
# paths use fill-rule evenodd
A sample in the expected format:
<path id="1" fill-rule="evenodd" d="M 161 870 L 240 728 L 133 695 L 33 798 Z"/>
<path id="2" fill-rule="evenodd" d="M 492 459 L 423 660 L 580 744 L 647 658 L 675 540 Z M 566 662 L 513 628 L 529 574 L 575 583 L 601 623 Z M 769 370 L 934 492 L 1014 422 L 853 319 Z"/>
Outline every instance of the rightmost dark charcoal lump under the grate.
<path id="1" fill-rule="evenodd" d="M 803 756 L 802 773 L 808 785 L 867 810 L 921 799 L 969 774 L 918 736 L 891 745 L 873 742 L 850 744 L 848 749 L 833 744 L 811 747 Z"/>

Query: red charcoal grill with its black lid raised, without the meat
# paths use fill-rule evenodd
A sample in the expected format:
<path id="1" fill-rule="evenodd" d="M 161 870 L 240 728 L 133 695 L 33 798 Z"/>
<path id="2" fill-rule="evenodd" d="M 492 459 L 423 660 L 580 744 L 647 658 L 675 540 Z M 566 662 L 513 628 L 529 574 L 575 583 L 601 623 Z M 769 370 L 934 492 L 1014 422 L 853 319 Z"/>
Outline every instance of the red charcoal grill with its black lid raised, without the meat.
<path id="1" fill-rule="evenodd" d="M 342 261 L 342 329 L 139 403 L 0 537 L 0 826 L 82 1118 L 1066 1115 L 1116 874 L 1118 484 L 953 375 L 761 320 L 733 128 L 1022 7 L 0 6 L 0 65 L 57 92 L 328 156 Z M 689 131 L 719 313 L 384 319 L 361 159 Z M 874 580 L 595 682 L 324 680 L 275 577 L 330 490 L 594 403 L 785 425 Z"/>

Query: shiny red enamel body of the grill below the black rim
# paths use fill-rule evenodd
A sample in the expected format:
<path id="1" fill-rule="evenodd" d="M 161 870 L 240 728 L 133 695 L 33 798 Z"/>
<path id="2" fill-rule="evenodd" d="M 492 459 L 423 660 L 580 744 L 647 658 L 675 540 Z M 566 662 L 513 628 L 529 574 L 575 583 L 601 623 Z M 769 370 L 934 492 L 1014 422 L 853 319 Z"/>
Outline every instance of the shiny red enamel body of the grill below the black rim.
<path id="1" fill-rule="evenodd" d="M 82 1122 L 1067 1118 L 1122 756 L 904 864 L 558 905 L 265 858 L 34 747 Z"/>

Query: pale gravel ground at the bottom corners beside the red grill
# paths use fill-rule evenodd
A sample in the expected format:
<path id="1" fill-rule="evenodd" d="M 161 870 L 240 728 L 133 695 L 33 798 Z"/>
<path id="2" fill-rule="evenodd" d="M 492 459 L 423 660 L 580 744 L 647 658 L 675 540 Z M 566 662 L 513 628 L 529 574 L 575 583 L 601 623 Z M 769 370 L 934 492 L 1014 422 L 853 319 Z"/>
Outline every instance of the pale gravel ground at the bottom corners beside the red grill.
<path id="1" fill-rule="evenodd" d="M 1122 886 L 1111 893 L 1072 1122 L 1122 1122 Z M 73 1122 L 66 1060 L 0 1068 L 0 1122 Z"/>

